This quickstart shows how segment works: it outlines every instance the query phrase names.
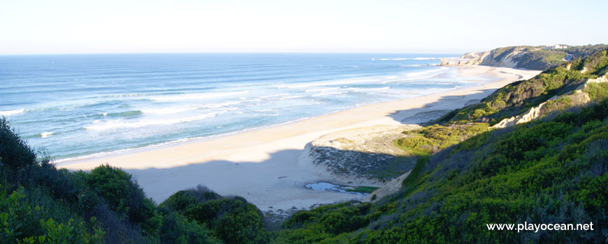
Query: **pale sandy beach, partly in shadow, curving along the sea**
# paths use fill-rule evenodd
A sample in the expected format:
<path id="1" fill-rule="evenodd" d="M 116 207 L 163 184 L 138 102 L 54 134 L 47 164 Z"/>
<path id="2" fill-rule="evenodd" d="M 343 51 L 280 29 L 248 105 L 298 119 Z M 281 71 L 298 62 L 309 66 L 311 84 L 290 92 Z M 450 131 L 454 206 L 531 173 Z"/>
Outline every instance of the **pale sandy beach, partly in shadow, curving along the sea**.
<path id="1" fill-rule="evenodd" d="M 145 193 L 157 203 L 178 190 L 196 185 L 205 185 L 220 195 L 245 197 L 262 211 L 289 211 L 310 208 L 315 204 L 361 200 L 363 197 L 359 195 L 305 188 L 307 183 L 329 181 L 312 169 L 298 166 L 298 158 L 307 143 L 340 130 L 423 122 L 425 112 L 463 107 L 510 82 L 528 79 L 538 73 L 540 71 L 464 66 L 459 70 L 459 75 L 463 77 L 496 77 L 498 81 L 479 82 L 478 86 L 418 98 L 365 105 L 296 123 L 200 142 L 61 162 L 57 166 L 88 170 L 108 163 L 120 167 L 133 174 Z"/>

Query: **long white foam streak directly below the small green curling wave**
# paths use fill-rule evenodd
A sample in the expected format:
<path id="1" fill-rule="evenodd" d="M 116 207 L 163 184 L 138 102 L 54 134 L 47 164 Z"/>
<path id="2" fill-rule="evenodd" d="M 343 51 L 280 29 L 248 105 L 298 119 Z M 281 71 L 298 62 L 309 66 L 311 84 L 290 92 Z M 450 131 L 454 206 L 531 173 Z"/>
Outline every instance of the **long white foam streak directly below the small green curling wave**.
<path id="1" fill-rule="evenodd" d="M 190 116 L 187 118 L 170 118 L 170 119 L 148 119 L 138 122 L 126 122 L 124 120 L 113 120 L 113 121 L 93 121 L 93 125 L 85 126 L 87 130 L 110 130 L 118 128 L 142 128 L 150 125 L 173 125 L 176 123 L 186 123 L 191 121 L 201 121 L 217 116 L 218 114 L 224 114 L 227 110 L 219 112 L 211 112 L 207 114 L 200 114 L 196 116 Z"/>

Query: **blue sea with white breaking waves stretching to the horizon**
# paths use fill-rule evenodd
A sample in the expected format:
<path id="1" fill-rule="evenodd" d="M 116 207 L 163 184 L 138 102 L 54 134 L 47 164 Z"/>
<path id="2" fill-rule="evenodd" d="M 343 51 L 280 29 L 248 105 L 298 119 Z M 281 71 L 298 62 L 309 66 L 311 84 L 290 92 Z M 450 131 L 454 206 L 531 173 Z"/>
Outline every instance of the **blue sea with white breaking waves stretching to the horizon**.
<path id="1" fill-rule="evenodd" d="M 474 82 L 455 54 L 0 56 L 0 115 L 59 161 L 241 132 Z"/>

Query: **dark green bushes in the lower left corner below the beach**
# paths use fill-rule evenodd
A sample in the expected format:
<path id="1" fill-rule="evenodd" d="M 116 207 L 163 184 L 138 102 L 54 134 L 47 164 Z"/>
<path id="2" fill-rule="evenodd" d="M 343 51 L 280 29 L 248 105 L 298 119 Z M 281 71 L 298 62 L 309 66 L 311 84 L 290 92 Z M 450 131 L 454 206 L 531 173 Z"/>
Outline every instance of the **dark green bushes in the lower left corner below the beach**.
<path id="1" fill-rule="evenodd" d="M 0 157 L 0 243 L 268 242 L 261 212 L 242 197 L 198 188 L 159 207 L 115 167 L 56 169 L 3 118 Z"/>

